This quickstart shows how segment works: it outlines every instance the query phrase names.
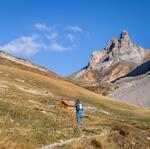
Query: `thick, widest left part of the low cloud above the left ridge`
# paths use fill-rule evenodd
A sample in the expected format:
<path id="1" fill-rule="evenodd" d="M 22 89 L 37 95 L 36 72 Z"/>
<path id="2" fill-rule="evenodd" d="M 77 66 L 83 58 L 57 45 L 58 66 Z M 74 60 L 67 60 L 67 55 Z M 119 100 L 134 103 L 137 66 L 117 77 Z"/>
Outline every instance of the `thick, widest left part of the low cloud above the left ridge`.
<path id="1" fill-rule="evenodd" d="M 31 56 L 37 53 L 41 48 L 45 48 L 44 44 L 37 41 L 38 38 L 37 35 L 22 36 L 0 46 L 0 48 L 15 55 Z"/>

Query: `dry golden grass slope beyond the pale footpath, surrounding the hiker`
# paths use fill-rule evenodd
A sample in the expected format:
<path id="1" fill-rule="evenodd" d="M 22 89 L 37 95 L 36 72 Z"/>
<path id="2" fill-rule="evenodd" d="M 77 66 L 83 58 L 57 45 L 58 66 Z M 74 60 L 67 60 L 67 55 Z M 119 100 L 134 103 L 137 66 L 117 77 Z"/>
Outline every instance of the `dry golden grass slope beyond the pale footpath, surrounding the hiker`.
<path id="1" fill-rule="evenodd" d="M 72 117 L 75 113 L 55 107 L 61 99 L 78 98 L 85 105 L 85 109 L 94 107 L 92 113 L 85 110 L 86 117 L 82 120 L 82 125 L 90 130 L 96 129 L 96 133 L 104 127 L 123 124 L 144 132 L 150 130 L 148 109 L 114 101 L 54 75 L 51 77 L 20 67 L 0 64 L 0 71 L 3 72 L 0 74 L 0 83 L 5 82 L 9 86 L 0 94 L 0 146 L 3 148 L 35 148 L 57 140 L 78 137 L 83 133 L 93 135 L 92 131 L 76 130 L 75 117 Z M 15 85 L 51 94 L 36 95 L 20 90 Z M 102 145 L 114 144 L 109 144 L 103 137 L 100 142 Z M 96 144 L 96 141 L 92 144 Z M 82 147 L 81 143 L 80 148 Z"/>

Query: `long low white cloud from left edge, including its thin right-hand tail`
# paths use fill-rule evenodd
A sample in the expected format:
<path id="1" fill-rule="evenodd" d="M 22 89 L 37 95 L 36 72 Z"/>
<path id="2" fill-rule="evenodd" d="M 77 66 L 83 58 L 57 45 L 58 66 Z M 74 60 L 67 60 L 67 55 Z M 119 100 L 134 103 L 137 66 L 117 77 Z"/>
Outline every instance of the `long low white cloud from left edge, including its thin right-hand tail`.
<path id="1" fill-rule="evenodd" d="M 41 50 L 66 51 L 71 49 L 70 47 L 65 47 L 57 42 L 46 43 L 44 39 L 41 39 L 42 38 L 38 35 L 22 36 L 0 46 L 0 49 L 16 56 L 28 57 L 38 53 Z"/>

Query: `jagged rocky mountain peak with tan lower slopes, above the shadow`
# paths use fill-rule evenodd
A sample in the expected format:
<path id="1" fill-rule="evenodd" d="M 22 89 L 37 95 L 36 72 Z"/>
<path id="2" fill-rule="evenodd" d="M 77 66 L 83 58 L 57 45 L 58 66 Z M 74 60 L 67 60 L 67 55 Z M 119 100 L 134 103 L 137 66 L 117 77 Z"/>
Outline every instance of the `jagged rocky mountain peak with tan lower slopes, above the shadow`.
<path id="1" fill-rule="evenodd" d="M 74 73 L 71 78 L 86 83 L 112 82 L 128 74 L 150 58 L 150 51 L 133 44 L 127 31 L 113 38 L 108 45 L 91 55 L 88 66 Z"/>

